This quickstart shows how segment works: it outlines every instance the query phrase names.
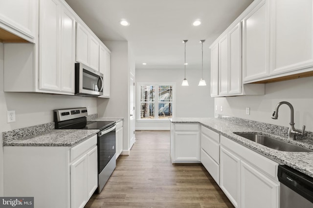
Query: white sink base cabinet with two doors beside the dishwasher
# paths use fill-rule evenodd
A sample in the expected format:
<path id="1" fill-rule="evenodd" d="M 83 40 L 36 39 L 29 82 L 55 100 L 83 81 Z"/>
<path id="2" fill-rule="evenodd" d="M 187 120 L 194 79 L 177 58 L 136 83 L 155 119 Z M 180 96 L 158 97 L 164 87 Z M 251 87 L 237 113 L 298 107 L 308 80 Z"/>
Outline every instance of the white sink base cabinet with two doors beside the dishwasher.
<path id="1" fill-rule="evenodd" d="M 220 187 L 236 208 L 279 208 L 278 163 L 221 135 Z"/>

